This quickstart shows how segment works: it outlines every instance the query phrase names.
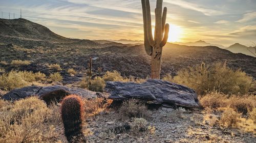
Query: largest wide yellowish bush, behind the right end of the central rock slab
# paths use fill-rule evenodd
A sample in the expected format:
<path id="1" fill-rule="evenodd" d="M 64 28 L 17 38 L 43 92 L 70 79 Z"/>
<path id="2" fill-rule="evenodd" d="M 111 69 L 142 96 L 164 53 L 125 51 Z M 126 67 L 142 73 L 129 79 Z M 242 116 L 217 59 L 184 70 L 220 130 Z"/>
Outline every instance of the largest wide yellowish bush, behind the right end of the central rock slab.
<path id="1" fill-rule="evenodd" d="M 243 95 L 248 93 L 252 84 L 252 77 L 241 70 L 233 71 L 225 63 L 216 63 L 202 70 L 201 66 L 182 69 L 173 81 L 195 89 L 200 95 L 205 94 L 205 91 L 213 90 L 224 94 Z"/>

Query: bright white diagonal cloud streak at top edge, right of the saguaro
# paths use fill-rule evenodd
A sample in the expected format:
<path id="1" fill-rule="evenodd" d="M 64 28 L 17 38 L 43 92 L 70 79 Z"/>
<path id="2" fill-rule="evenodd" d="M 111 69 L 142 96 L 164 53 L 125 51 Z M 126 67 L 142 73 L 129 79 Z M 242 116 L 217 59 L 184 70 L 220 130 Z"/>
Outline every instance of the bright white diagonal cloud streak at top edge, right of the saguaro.
<path id="1" fill-rule="evenodd" d="M 186 1 L 182 1 L 182 0 L 167 1 L 165 3 L 177 5 L 177 6 L 180 6 L 182 8 L 185 8 L 185 9 L 198 11 L 198 12 L 203 13 L 204 15 L 207 15 L 207 16 L 222 14 L 222 12 L 220 12 L 220 11 L 207 9 L 207 8 L 204 8 L 200 5 L 197 5 L 197 4 L 194 4 L 194 3 L 189 3 L 189 2 L 186 2 Z"/>

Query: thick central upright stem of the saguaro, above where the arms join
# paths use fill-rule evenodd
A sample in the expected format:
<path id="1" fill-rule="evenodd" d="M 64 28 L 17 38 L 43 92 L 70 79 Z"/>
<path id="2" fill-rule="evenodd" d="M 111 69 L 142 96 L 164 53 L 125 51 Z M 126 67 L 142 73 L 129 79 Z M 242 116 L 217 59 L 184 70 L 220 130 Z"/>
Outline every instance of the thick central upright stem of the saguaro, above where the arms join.
<path id="1" fill-rule="evenodd" d="M 156 7 L 156 26 L 155 26 L 155 33 L 156 33 L 156 45 L 160 45 L 162 40 L 162 5 L 163 0 L 157 0 L 157 7 Z"/>

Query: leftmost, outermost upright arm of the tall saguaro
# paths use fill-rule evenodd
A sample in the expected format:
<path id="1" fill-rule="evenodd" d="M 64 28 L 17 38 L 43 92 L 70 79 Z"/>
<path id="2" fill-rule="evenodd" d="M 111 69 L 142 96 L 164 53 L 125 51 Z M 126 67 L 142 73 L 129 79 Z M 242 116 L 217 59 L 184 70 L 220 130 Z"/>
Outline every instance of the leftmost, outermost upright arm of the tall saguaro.
<path id="1" fill-rule="evenodd" d="M 143 27 L 144 27 L 144 47 L 145 51 L 148 55 L 152 54 L 153 47 L 150 45 L 150 43 L 147 40 L 147 30 L 146 30 L 146 6 L 145 6 L 145 0 L 141 0 L 142 4 L 142 13 L 143 13 Z"/>

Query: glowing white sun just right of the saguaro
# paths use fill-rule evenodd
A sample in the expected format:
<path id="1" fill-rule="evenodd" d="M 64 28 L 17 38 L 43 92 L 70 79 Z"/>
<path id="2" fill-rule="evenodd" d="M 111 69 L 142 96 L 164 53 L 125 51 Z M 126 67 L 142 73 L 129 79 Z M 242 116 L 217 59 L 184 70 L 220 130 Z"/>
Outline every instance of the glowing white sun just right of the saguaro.
<path id="1" fill-rule="evenodd" d="M 180 26 L 170 24 L 168 42 L 180 42 L 183 35 L 183 29 Z"/>

